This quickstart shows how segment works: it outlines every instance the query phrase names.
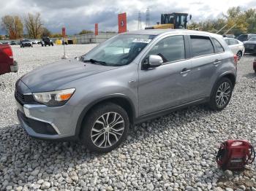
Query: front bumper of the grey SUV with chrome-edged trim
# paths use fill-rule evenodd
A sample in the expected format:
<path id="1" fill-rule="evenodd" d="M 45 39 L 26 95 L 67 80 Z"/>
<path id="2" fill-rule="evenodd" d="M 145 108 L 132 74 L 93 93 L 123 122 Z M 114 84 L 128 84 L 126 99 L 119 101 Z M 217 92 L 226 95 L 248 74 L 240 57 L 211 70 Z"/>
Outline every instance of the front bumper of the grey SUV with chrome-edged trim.
<path id="1" fill-rule="evenodd" d="M 75 125 L 71 123 L 63 106 L 48 107 L 42 104 L 24 104 L 16 100 L 20 125 L 38 139 L 75 139 Z M 70 108 L 69 108 L 70 109 Z M 72 128 L 74 127 L 74 128 Z"/>

